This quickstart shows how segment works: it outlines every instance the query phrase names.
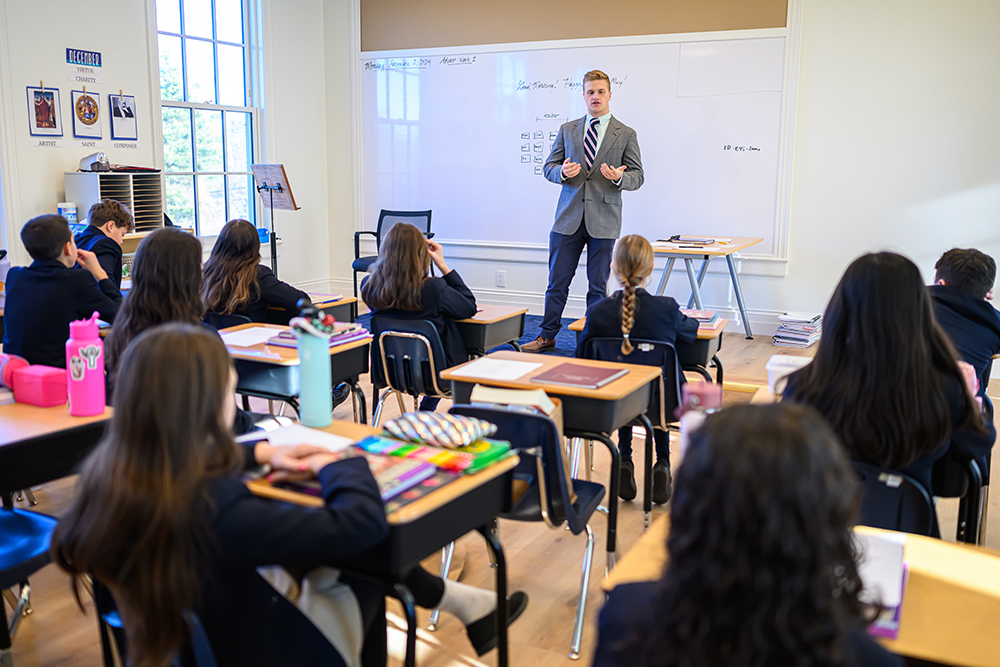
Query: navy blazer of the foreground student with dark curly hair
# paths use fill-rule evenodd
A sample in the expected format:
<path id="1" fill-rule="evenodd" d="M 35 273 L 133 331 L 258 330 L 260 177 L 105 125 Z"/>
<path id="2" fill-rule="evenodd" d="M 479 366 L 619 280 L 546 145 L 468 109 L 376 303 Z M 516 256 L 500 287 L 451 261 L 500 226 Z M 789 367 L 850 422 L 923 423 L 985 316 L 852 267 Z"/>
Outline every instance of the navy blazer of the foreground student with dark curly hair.
<path id="1" fill-rule="evenodd" d="M 608 594 L 597 622 L 597 649 L 593 667 L 631 667 L 618 655 L 619 644 L 635 626 L 649 618 L 656 596 L 654 582 L 621 584 Z M 903 661 L 879 646 L 862 628 L 852 628 L 847 636 L 848 664 L 852 667 L 902 667 Z"/>

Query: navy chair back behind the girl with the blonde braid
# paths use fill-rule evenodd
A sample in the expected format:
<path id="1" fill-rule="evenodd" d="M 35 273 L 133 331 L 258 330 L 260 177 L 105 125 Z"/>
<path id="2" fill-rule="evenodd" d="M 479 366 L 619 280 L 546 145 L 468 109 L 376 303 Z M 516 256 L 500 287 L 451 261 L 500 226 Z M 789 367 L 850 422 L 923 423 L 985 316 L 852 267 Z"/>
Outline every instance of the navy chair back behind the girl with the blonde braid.
<path id="1" fill-rule="evenodd" d="M 676 421 L 674 411 L 681 404 L 681 382 L 684 374 L 677 360 L 677 348 L 662 340 L 633 338 L 632 353 L 622 353 L 623 338 L 591 338 L 583 347 L 583 356 L 598 361 L 614 361 L 621 364 L 659 366 L 663 370 L 663 385 L 657 386 L 646 414 L 654 426 L 666 429 L 669 422 Z"/>

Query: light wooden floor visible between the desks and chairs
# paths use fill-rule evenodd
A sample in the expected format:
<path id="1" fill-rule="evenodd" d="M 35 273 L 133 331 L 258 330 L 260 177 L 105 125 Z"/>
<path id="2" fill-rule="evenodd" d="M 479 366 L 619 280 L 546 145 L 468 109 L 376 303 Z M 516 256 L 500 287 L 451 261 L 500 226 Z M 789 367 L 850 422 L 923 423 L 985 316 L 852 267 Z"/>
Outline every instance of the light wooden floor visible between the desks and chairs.
<path id="1" fill-rule="evenodd" d="M 719 357 L 725 367 L 726 382 L 757 384 L 767 382 L 764 368 L 775 353 L 809 354 L 812 350 L 779 349 L 771 345 L 770 337 L 760 336 L 747 341 L 741 334 L 725 334 Z M 996 384 L 996 383 L 994 383 Z M 365 393 L 371 388 L 363 383 Z M 723 402 L 732 405 L 750 400 L 751 394 L 726 391 Z M 369 399 L 370 400 L 370 399 Z M 254 404 L 264 411 L 266 407 Z M 371 405 L 369 405 L 369 410 Z M 440 410 L 446 410 L 443 404 Z M 388 402 L 386 418 L 398 413 L 395 401 Z M 338 406 L 335 415 L 351 419 L 350 403 Z M 608 477 L 609 459 L 595 447 L 595 480 Z M 641 458 L 642 446 L 636 443 Z M 637 464 L 639 460 L 637 460 Z M 1000 473 L 998 473 L 1000 474 Z M 642 498 L 641 475 L 639 498 Z M 69 503 L 73 481 L 61 480 L 35 491 L 38 511 L 58 515 Z M 1000 548 L 1000 507 L 996 497 L 991 498 L 988 544 Z M 946 539 L 954 539 L 955 517 L 958 502 L 942 500 L 938 506 L 942 531 Z M 666 507 L 654 506 L 654 515 Z M 622 502 L 619 511 L 620 552 L 625 553 L 642 532 L 642 506 L 640 502 Z M 596 641 L 596 619 L 602 594 L 600 582 L 604 574 L 604 515 L 595 514 L 592 527 L 596 535 L 594 562 L 591 568 L 587 594 L 587 623 L 583 635 L 583 651 L 579 663 L 567 658 L 570 633 L 579 590 L 580 567 L 583 560 L 585 537 L 574 536 L 565 530 L 550 530 L 543 524 L 501 521 L 500 537 L 507 555 L 510 590 L 524 590 L 530 602 L 524 615 L 511 627 L 511 665 L 548 667 L 555 665 L 589 665 Z M 436 559 L 428 566 L 437 571 Z M 477 534 L 465 536 L 456 548 L 452 577 L 484 588 L 492 588 L 494 570 L 489 567 L 486 548 Z M 101 665 L 97 621 L 87 605 L 82 613 L 73 599 L 68 579 L 55 567 L 49 566 L 31 578 L 34 613 L 22 620 L 14 638 L 14 664 L 18 667 L 97 667 Z M 442 616 L 437 632 L 426 631 L 428 612 L 420 611 L 421 630 L 418 633 L 418 664 L 423 667 L 495 665 L 495 652 L 476 658 L 464 634 L 464 628 L 454 618 Z M 398 606 L 390 608 L 391 665 L 400 665 L 403 651 L 403 621 Z"/>

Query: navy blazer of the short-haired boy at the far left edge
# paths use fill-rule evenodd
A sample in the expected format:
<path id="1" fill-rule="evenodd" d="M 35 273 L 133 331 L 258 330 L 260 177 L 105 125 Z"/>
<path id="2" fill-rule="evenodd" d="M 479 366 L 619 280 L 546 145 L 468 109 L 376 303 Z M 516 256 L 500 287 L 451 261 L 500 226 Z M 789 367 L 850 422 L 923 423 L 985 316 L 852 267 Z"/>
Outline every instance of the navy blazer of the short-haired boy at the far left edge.
<path id="1" fill-rule="evenodd" d="M 58 259 L 36 259 L 7 273 L 3 351 L 32 364 L 66 368 L 69 323 L 97 311 L 112 322 L 122 294 L 109 280 L 71 269 Z"/>

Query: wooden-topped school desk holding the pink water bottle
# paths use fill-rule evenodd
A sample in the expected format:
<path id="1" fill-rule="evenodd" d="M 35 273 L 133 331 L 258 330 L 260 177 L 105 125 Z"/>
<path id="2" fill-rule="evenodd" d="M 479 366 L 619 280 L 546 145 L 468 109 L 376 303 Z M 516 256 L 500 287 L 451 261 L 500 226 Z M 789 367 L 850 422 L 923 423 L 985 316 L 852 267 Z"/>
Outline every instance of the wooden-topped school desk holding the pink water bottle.
<path id="1" fill-rule="evenodd" d="M 73 474 L 111 419 L 111 408 L 95 417 L 73 417 L 66 405 L 39 408 L 9 397 L 3 401 L 0 494 L 5 504 L 15 491 Z"/>

